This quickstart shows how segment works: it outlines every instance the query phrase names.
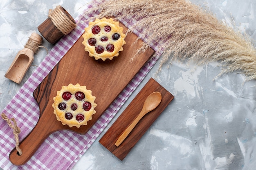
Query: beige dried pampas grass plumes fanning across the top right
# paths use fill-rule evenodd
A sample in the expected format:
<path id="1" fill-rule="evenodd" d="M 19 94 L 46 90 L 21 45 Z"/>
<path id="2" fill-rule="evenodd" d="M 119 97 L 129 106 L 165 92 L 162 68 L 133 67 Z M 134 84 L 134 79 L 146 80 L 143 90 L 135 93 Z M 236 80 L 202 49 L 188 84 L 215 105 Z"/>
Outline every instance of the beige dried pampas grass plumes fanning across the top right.
<path id="1" fill-rule="evenodd" d="M 238 71 L 247 80 L 256 79 L 256 49 L 249 37 L 187 0 L 103 0 L 88 13 L 98 10 L 97 18 L 137 20 L 129 31 L 139 30 L 147 42 L 164 48 L 161 65 L 173 59 L 219 61 L 224 66 L 220 74 Z"/>

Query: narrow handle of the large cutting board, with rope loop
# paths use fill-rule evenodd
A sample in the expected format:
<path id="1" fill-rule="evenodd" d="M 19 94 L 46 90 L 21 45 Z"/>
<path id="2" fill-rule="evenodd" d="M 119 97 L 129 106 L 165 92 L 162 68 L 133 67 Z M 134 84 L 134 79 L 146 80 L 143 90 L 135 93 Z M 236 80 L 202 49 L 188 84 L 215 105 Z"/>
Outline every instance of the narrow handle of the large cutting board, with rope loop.
<path id="1" fill-rule="evenodd" d="M 22 155 L 18 155 L 16 148 L 11 151 L 9 155 L 11 163 L 18 166 L 25 164 L 38 150 L 44 140 L 57 130 L 56 125 L 49 123 L 49 121 L 47 122 L 45 116 L 40 117 L 34 129 L 20 142 L 19 147 L 22 150 Z"/>

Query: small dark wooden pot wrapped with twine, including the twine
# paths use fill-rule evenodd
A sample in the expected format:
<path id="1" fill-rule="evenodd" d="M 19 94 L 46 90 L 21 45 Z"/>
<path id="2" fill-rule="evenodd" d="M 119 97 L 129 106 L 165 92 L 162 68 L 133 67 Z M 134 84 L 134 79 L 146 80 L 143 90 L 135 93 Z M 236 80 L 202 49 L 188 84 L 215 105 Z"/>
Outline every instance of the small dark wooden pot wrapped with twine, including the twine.
<path id="1" fill-rule="evenodd" d="M 50 9 L 48 18 L 38 26 L 38 31 L 51 44 L 55 44 L 63 35 L 67 35 L 74 28 L 74 18 L 61 6 Z"/>

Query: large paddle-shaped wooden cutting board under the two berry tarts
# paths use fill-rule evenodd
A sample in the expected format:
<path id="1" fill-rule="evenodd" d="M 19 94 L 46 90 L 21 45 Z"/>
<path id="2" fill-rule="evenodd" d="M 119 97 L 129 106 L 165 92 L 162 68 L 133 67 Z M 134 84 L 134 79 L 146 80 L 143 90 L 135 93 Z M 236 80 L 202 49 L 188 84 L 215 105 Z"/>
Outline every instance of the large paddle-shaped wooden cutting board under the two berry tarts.
<path id="1" fill-rule="evenodd" d="M 123 24 L 120 23 L 120 26 L 124 27 L 124 32 L 127 31 L 128 28 Z M 22 155 L 17 155 L 17 150 L 14 148 L 9 155 L 10 161 L 15 165 L 26 163 L 43 141 L 55 131 L 69 130 L 79 134 L 87 133 L 154 53 L 151 48 L 148 48 L 144 53 L 135 57 L 137 49 L 143 44 L 143 41 L 137 41 L 137 38 L 134 33 L 128 34 L 124 50 L 119 53 L 119 56 L 111 61 L 108 59 L 102 61 L 89 57 L 88 52 L 84 50 L 81 36 L 34 91 L 34 98 L 40 108 L 38 123 L 20 142 Z M 132 57 L 134 57 L 133 60 L 131 60 Z M 53 97 L 63 85 L 67 86 L 70 83 L 85 85 L 96 97 L 97 113 L 92 116 L 92 120 L 88 121 L 88 125 L 82 125 L 80 128 L 63 126 L 60 121 L 56 120 L 53 113 Z"/>

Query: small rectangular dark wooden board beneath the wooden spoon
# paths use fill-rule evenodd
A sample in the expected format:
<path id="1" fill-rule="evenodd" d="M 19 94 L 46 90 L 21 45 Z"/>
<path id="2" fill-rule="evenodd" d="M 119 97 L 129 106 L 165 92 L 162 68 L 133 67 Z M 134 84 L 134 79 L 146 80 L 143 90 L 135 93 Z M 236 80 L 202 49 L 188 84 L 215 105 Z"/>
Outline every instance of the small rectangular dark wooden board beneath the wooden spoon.
<path id="1" fill-rule="evenodd" d="M 115 146 L 115 142 L 123 131 L 135 120 L 140 113 L 144 101 L 153 92 L 160 92 L 162 95 L 162 101 L 156 109 L 147 113 L 139 123 L 135 126 L 130 134 L 124 139 L 118 147 Z M 130 150 L 135 146 L 139 139 L 148 130 L 151 124 L 157 119 L 157 117 L 164 111 L 168 104 L 173 100 L 174 96 L 168 92 L 162 85 L 157 83 L 153 78 L 150 78 L 148 83 L 141 89 L 137 96 L 130 102 L 124 112 L 117 118 L 108 131 L 101 137 L 99 143 L 106 147 L 111 153 L 113 153 L 118 159 L 123 160 Z"/>

